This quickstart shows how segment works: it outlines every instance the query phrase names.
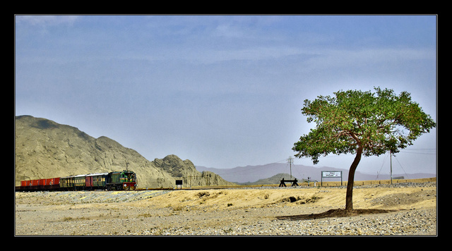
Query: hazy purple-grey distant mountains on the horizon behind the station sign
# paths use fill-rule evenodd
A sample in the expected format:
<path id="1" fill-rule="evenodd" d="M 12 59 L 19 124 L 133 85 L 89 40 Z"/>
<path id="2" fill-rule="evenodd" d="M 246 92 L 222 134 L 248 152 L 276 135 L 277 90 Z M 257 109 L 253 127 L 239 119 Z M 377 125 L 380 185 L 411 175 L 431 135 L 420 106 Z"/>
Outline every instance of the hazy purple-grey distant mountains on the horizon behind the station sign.
<path id="1" fill-rule="evenodd" d="M 271 163 L 259 166 L 237 166 L 233 169 L 215 169 L 208 168 L 206 166 L 196 166 L 198 171 L 211 171 L 217 173 L 219 176 L 227 181 L 234 183 L 253 183 L 260 179 L 270 178 L 280 173 L 290 173 L 290 167 L 285 163 Z M 321 171 L 342 171 L 343 181 L 347 181 L 348 169 L 337 169 L 328 166 L 314 167 L 292 164 L 292 176 L 298 180 L 307 179 L 321 180 Z M 400 174 L 393 173 L 393 178 L 432 178 L 436 175 L 434 173 L 408 173 Z M 362 173 L 356 171 L 355 180 L 388 180 L 391 176 L 389 174 L 380 174 L 378 177 L 376 174 Z M 327 178 L 326 181 L 340 181 L 340 178 Z"/>

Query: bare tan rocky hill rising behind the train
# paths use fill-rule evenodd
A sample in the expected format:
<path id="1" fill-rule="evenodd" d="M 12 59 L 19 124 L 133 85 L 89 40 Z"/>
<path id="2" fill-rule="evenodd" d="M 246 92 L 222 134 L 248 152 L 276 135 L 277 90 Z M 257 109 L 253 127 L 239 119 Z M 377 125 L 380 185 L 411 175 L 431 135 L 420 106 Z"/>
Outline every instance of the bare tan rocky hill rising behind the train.
<path id="1" fill-rule="evenodd" d="M 91 137 L 78 128 L 45 118 L 16 116 L 16 185 L 20 180 L 129 169 L 141 188 L 168 188 L 176 179 L 189 185 L 232 185 L 209 171 L 199 172 L 176 155 L 148 161 L 108 137 Z"/>

